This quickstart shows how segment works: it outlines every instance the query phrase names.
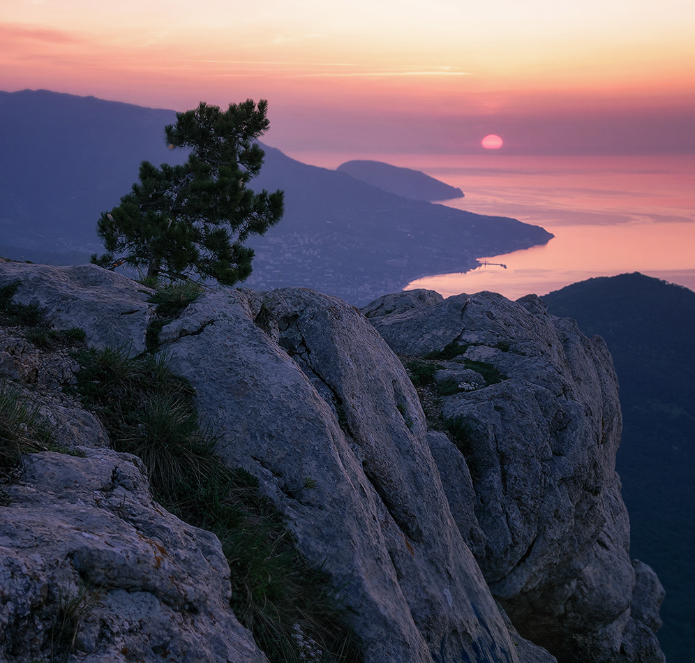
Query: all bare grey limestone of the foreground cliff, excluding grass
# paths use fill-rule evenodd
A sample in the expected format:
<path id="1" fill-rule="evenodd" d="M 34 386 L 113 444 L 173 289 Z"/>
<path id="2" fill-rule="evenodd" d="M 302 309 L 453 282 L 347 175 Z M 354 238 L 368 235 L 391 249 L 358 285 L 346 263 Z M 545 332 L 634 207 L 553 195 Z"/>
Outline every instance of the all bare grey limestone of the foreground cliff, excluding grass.
<path id="1" fill-rule="evenodd" d="M 13 301 L 55 329 L 144 350 L 154 304 L 137 283 L 0 263 L 0 288 L 17 282 Z M 265 660 L 216 537 L 158 507 L 138 459 L 100 448 L 61 391 L 69 355 L 4 334 L 0 372 L 85 455 L 32 454 L 5 487 L 0 661 L 38 657 L 80 579 L 96 598 L 71 660 Z M 360 312 L 301 288 L 209 290 L 158 343 L 218 453 L 330 574 L 365 661 L 663 660 L 662 590 L 629 558 L 611 358 L 539 299 L 418 291 Z"/>

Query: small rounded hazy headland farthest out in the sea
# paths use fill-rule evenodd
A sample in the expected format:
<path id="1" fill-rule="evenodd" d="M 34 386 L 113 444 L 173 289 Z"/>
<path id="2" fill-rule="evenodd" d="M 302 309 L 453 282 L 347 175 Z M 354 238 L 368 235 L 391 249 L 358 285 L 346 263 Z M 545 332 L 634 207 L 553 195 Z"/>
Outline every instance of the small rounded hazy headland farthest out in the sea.
<path id="1" fill-rule="evenodd" d="M 354 179 L 378 186 L 384 191 L 402 195 L 403 198 L 410 198 L 410 200 L 463 198 L 463 191 L 460 188 L 444 184 L 419 170 L 401 168 L 383 161 L 366 159 L 345 161 L 336 170 L 346 172 Z"/>

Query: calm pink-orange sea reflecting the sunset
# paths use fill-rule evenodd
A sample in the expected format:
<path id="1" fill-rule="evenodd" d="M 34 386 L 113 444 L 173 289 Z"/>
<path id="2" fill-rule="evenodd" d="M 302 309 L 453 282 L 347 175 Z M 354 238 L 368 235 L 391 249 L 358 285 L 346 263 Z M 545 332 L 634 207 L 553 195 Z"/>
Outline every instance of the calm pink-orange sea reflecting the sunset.
<path id="1" fill-rule="evenodd" d="M 419 278 L 406 289 L 449 296 L 493 290 L 545 295 L 593 276 L 641 271 L 695 290 L 695 156 L 479 156 L 292 154 L 336 167 L 371 158 L 460 187 L 442 204 L 511 216 L 555 235 L 545 246 L 498 256 L 465 274 Z"/>

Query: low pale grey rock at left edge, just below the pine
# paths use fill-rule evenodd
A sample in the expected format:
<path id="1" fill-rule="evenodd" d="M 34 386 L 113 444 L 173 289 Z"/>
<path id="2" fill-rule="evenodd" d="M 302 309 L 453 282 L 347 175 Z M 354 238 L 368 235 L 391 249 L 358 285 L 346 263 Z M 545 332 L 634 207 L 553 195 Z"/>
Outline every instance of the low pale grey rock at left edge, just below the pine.
<path id="1" fill-rule="evenodd" d="M 145 332 L 154 315 L 151 290 L 97 265 L 50 267 L 0 261 L 0 288 L 20 281 L 13 298 L 34 304 L 54 329 L 82 327 L 89 345 L 145 349 Z"/>

